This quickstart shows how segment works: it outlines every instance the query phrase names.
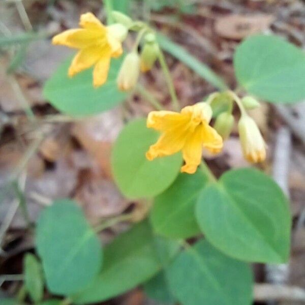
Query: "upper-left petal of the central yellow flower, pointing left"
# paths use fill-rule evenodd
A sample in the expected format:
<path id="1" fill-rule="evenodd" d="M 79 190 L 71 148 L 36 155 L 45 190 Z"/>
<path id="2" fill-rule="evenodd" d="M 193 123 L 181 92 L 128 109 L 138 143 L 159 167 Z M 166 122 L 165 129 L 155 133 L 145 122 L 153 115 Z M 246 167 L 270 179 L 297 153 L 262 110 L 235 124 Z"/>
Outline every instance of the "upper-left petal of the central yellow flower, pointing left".
<path id="1" fill-rule="evenodd" d="M 166 131 L 187 124 L 189 119 L 189 116 L 173 111 L 151 111 L 147 117 L 147 127 Z"/>

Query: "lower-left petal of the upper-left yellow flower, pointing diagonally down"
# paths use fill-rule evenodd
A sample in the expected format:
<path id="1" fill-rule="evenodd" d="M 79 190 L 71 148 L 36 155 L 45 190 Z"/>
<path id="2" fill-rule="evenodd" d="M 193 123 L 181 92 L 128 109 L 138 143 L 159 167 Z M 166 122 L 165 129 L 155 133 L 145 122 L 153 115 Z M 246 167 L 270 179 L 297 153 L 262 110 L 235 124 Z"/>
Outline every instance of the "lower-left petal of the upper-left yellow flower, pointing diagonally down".
<path id="1" fill-rule="evenodd" d="M 72 77 L 76 73 L 96 64 L 101 58 L 101 52 L 103 52 L 103 49 L 96 46 L 80 50 L 72 60 L 68 75 Z"/>

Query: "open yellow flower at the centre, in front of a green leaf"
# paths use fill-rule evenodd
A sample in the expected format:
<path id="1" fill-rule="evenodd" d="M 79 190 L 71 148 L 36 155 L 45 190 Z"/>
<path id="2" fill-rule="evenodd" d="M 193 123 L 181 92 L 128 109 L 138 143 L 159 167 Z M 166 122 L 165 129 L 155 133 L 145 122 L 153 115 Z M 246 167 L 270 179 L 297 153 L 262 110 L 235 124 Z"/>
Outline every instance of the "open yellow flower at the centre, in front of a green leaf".
<path id="1" fill-rule="evenodd" d="M 219 153 L 223 140 L 209 121 L 212 110 L 206 103 L 187 106 L 180 113 L 172 111 L 152 111 L 147 117 L 147 127 L 161 131 L 156 144 L 146 153 L 148 160 L 169 156 L 182 150 L 185 165 L 181 172 L 189 174 L 197 170 L 201 162 L 203 147 L 211 153 Z"/>

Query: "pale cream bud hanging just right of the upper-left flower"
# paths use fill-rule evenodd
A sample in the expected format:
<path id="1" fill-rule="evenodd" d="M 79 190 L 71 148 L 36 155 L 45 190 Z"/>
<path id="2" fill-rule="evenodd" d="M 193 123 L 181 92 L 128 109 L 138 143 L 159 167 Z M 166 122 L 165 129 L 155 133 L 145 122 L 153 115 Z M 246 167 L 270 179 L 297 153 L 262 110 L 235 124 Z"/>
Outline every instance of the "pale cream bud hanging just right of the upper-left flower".
<path id="1" fill-rule="evenodd" d="M 120 67 L 116 79 L 117 86 L 122 91 L 132 89 L 139 78 L 140 58 L 137 52 L 131 52 L 126 55 L 124 62 Z"/>

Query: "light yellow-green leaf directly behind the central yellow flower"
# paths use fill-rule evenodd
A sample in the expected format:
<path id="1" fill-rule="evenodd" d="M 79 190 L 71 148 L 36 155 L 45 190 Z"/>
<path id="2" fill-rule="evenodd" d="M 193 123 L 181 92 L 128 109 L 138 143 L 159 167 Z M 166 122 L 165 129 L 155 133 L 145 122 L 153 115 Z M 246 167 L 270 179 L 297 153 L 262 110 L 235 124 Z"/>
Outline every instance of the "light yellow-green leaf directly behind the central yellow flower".
<path id="1" fill-rule="evenodd" d="M 167 189 L 176 178 L 181 154 L 148 161 L 145 153 L 159 133 L 146 128 L 145 119 L 131 121 L 118 136 L 111 156 L 114 179 L 129 198 L 153 197 Z"/>

